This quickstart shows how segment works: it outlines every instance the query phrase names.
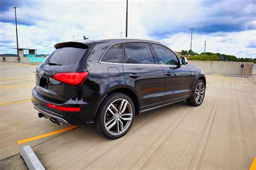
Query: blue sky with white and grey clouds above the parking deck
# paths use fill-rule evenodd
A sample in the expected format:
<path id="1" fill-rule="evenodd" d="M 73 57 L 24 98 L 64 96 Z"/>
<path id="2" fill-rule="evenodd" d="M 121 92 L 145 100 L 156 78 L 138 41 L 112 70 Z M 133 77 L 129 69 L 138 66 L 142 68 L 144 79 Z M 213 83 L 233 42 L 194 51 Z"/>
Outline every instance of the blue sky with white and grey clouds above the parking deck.
<path id="1" fill-rule="evenodd" d="M 126 1 L 0 1 L 0 53 L 20 48 L 49 54 L 59 42 L 125 36 Z M 153 39 L 174 51 L 256 58 L 256 1 L 132 1 L 128 37 Z M 28 53 L 28 52 L 26 52 Z"/>

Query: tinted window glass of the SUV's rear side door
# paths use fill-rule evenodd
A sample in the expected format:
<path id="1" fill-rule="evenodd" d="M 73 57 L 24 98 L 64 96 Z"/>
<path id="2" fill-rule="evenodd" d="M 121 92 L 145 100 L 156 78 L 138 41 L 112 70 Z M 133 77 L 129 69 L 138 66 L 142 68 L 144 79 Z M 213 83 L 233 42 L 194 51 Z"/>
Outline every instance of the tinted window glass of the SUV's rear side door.
<path id="1" fill-rule="evenodd" d="M 131 64 L 154 64 L 154 59 L 147 43 L 126 43 L 125 62 Z"/>

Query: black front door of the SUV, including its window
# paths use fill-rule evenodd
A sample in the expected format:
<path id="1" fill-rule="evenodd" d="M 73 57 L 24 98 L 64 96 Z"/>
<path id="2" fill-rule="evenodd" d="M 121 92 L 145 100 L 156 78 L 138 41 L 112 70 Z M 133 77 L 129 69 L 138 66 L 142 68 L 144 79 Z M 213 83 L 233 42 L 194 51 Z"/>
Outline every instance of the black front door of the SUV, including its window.
<path id="1" fill-rule="evenodd" d="M 181 65 L 179 58 L 167 47 L 160 44 L 151 45 L 165 74 L 164 105 L 188 98 L 191 93 L 190 69 Z"/>

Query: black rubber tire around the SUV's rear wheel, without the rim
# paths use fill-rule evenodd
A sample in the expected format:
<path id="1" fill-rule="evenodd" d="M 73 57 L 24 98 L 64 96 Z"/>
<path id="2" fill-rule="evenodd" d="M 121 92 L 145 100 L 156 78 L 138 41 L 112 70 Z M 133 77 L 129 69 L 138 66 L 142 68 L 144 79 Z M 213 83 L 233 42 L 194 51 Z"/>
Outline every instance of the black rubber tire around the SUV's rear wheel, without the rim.
<path id="1" fill-rule="evenodd" d="M 107 107 L 109 107 L 109 105 L 116 99 L 126 99 L 127 101 L 129 101 L 129 103 L 132 106 L 132 120 L 131 120 L 131 124 L 129 125 L 129 127 L 127 128 L 127 130 L 119 135 L 113 135 L 109 132 L 107 132 L 106 128 L 105 128 L 105 124 L 104 124 L 104 118 L 105 118 L 105 112 L 107 110 Z M 105 137 L 109 138 L 109 139 L 118 139 L 123 137 L 131 128 L 133 121 L 134 121 L 134 116 L 135 116 L 135 108 L 134 108 L 134 104 L 133 101 L 131 100 L 130 97 L 126 96 L 123 93 L 113 93 L 110 94 L 109 96 L 107 96 L 104 101 L 102 102 L 102 104 L 99 107 L 99 112 L 97 114 L 97 123 L 96 126 L 98 126 L 98 130 L 100 131 L 100 133 L 102 133 Z"/>

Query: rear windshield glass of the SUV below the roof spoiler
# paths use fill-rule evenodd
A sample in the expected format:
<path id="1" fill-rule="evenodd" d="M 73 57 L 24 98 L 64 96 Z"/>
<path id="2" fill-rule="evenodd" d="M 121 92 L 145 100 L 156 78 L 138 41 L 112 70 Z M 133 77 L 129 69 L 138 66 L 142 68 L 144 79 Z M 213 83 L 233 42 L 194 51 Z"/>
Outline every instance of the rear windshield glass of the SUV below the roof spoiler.
<path id="1" fill-rule="evenodd" d="M 63 47 L 57 49 L 51 53 L 51 55 L 45 61 L 45 64 L 55 63 L 57 65 L 71 65 L 78 62 L 78 60 L 84 55 L 86 49 L 80 49 L 77 47 Z"/>

